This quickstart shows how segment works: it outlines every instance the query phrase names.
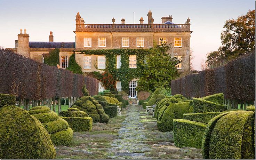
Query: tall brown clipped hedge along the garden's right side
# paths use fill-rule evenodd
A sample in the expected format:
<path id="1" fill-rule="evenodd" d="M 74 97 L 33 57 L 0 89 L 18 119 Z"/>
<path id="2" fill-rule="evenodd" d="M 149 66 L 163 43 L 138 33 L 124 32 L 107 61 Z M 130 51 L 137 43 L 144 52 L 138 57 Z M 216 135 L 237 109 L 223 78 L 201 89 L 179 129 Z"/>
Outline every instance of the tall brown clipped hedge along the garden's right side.
<path id="1" fill-rule="evenodd" d="M 226 99 L 255 100 L 255 53 L 224 66 L 192 73 L 171 81 L 171 92 L 185 97 L 224 93 Z"/>

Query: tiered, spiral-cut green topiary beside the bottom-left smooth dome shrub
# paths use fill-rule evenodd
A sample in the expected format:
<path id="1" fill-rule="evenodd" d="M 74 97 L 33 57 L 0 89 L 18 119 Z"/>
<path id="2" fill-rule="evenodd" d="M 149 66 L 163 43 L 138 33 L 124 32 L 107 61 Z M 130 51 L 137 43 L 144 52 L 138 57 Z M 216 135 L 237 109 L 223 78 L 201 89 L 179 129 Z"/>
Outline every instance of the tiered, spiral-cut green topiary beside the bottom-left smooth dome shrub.
<path id="1" fill-rule="evenodd" d="M 42 123 L 50 134 L 51 142 L 54 145 L 68 146 L 70 144 L 73 138 L 73 130 L 69 128 L 69 124 L 64 119 L 50 111 L 49 107 L 37 106 L 31 108 L 28 112 Z"/>

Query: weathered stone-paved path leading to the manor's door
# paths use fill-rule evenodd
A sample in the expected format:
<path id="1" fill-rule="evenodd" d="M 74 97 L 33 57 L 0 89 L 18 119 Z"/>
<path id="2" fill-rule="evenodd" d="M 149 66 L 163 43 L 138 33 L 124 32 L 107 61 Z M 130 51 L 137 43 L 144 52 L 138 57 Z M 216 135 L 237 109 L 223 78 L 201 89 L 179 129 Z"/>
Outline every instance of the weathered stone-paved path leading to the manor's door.
<path id="1" fill-rule="evenodd" d="M 143 132 L 143 124 L 139 118 L 139 108 L 137 105 L 127 107 L 127 117 L 118 132 L 119 136 L 111 144 L 110 152 L 114 156 L 110 158 L 151 159 L 145 155 L 146 152 L 152 149 L 152 146 L 144 143 L 146 137 Z"/>

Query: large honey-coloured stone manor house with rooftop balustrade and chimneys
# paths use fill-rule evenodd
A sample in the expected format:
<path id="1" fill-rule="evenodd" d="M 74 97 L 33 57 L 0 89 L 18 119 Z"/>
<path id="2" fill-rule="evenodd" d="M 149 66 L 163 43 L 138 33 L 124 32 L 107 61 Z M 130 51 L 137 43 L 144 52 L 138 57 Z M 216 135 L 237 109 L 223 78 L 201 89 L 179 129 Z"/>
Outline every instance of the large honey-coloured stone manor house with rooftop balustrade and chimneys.
<path id="1" fill-rule="evenodd" d="M 79 54 L 79 50 L 86 49 L 115 49 L 115 48 L 150 48 L 153 42 L 161 43 L 163 39 L 166 43 L 171 43 L 173 48 L 169 53 L 182 60 L 177 66 L 178 72 L 190 72 L 190 19 L 184 24 L 173 23 L 172 16 L 162 17 L 161 24 L 155 24 L 152 12 L 147 14 L 147 23 L 143 17 L 138 24 L 126 24 L 125 19 L 121 23 L 115 23 L 115 19 L 110 19 L 109 24 L 86 24 L 79 12 L 75 19 L 75 42 L 54 42 L 53 33 L 50 32 L 49 42 L 30 42 L 26 29 L 21 29 L 18 40 L 15 41 L 15 48 L 8 48 L 18 54 L 32 58 L 37 62 L 44 61 L 43 54 L 48 54 L 49 50 L 59 48 L 60 67 L 65 69 L 69 65 L 69 58 L 75 55 L 76 62 L 81 66 L 83 72 L 100 71 L 93 65 L 98 63 L 98 69 L 104 69 L 104 55 L 84 55 Z M 130 68 L 136 67 L 136 55 L 131 55 Z M 117 56 L 117 67 L 121 65 L 121 57 Z M 117 88 L 121 90 L 121 82 L 117 81 Z M 137 79 L 129 82 L 129 96 L 136 97 Z M 104 90 L 99 82 L 99 91 Z"/>

